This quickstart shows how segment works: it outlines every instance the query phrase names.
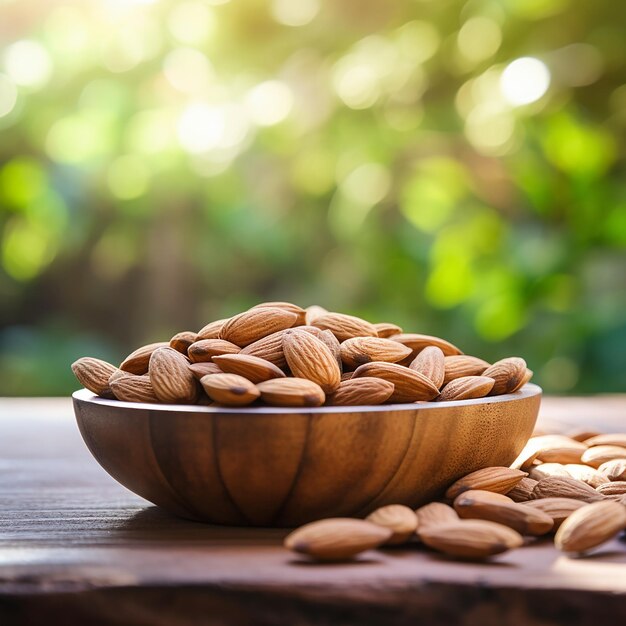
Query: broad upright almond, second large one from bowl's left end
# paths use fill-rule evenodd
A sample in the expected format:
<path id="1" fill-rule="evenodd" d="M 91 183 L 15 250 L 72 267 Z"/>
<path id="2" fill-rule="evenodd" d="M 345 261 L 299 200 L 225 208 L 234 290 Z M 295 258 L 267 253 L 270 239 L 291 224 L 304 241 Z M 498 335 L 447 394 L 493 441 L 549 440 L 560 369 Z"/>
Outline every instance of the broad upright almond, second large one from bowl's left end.
<path id="1" fill-rule="evenodd" d="M 157 348 L 148 366 L 150 382 L 161 402 L 193 403 L 198 385 L 187 359 L 174 348 Z"/>

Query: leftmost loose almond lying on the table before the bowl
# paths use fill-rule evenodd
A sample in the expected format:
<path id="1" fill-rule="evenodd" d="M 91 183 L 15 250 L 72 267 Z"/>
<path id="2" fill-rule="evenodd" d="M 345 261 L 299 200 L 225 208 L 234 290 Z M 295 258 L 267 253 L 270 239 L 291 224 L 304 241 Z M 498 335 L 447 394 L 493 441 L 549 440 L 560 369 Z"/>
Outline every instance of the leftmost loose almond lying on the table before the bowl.
<path id="1" fill-rule="evenodd" d="M 289 550 L 320 561 L 343 561 L 388 541 L 392 531 L 365 520 L 330 518 L 306 524 L 285 537 Z"/>

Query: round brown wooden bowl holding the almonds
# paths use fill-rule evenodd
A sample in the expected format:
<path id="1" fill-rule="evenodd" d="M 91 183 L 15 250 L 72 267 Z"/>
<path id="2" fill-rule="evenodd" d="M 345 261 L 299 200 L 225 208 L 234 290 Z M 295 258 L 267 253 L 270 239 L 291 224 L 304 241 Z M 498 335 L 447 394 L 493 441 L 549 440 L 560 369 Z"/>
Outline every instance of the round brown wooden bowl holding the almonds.
<path id="1" fill-rule="evenodd" d="M 509 465 L 541 389 L 456 402 L 229 409 L 73 395 L 80 432 L 122 485 L 214 524 L 296 526 L 417 507 L 457 478 Z"/>

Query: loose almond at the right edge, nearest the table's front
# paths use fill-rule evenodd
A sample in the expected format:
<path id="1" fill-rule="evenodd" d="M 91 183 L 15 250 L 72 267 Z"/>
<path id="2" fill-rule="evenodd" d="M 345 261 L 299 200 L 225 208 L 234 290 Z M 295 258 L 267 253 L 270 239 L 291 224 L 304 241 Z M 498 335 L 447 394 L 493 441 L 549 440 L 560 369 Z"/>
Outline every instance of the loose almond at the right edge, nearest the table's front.
<path id="1" fill-rule="evenodd" d="M 574 511 L 554 537 L 564 552 L 586 552 L 613 538 L 626 527 L 626 507 L 618 502 L 594 502 Z"/>

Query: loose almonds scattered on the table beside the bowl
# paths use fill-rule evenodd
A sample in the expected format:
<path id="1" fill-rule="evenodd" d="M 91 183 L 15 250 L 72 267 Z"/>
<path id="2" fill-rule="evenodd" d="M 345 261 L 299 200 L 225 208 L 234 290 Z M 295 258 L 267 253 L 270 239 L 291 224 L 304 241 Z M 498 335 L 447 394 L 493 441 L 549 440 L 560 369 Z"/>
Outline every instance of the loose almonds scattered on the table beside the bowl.
<path id="1" fill-rule="evenodd" d="M 365 520 L 306 524 L 290 550 L 341 561 L 385 545 L 422 542 L 460 559 L 486 559 L 553 534 L 564 552 L 584 553 L 626 529 L 626 433 L 532 437 L 511 467 L 487 467 L 450 485 L 445 498 L 413 511 L 382 507 Z"/>

